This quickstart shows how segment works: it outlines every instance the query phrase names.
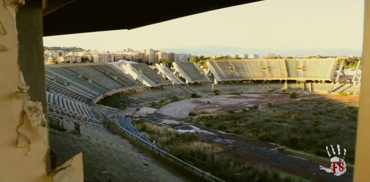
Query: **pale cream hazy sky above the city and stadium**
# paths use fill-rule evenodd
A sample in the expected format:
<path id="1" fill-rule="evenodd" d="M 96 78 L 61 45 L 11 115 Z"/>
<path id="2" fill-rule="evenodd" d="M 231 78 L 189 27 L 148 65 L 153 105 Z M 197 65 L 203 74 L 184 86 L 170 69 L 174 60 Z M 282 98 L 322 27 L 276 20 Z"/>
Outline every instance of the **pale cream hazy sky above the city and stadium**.
<path id="1" fill-rule="evenodd" d="M 155 49 L 205 55 L 355 55 L 364 0 L 264 0 L 131 30 L 44 37 L 44 46 Z"/>

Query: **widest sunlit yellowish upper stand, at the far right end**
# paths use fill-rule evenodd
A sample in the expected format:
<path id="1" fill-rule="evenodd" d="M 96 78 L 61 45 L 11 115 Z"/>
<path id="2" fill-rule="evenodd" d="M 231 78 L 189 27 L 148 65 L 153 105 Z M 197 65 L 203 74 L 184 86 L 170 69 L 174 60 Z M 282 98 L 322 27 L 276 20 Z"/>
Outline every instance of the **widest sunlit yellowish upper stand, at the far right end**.
<path id="1" fill-rule="evenodd" d="M 216 82 L 242 80 L 333 81 L 334 59 L 244 59 L 209 60 Z"/>

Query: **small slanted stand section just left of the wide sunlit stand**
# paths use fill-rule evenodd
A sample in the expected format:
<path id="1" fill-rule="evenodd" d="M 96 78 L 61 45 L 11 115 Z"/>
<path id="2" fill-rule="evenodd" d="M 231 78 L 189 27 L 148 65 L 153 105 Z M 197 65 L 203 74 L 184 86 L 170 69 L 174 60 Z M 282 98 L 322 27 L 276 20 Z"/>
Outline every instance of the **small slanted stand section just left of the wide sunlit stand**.
<path id="1" fill-rule="evenodd" d="M 198 64 L 190 62 L 174 62 L 175 74 L 179 74 L 188 83 L 209 83 L 211 80 L 205 72 L 199 68 Z"/>

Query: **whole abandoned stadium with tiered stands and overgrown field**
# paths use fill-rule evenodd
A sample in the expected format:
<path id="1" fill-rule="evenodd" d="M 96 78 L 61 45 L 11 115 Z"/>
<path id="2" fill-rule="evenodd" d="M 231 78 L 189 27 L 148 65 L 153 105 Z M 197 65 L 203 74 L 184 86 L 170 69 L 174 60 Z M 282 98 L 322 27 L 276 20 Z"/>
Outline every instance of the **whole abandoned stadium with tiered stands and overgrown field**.
<path id="1" fill-rule="evenodd" d="M 301 142 L 300 136 L 294 139 L 287 135 L 280 140 L 276 135 L 283 136 L 292 126 L 290 133 L 312 127 L 305 130 L 307 136 L 320 133 L 328 137 L 330 131 L 346 127 L 354 136 L 345 143 L 354 142 L 360 63 L 351 74 L 346 74 L 349 72 L 343 69 L 343 63 L 338 64 L 334 58 L 209 60 L 206 65 L 206 70 L 190 62 L 174 62 L 170 68 L 125 60 L 46 65 L 47 117 L 57 165 L 82 150 L 83 162 L 89 163 L 89 168 L 84 168 L 88 181 L 192 180 L 178 171 L 213 182 L 256 176 L 240 174 L 242 167 L 252 171 L 262 168 L 270 173 L 259 175 L 259 180 L 336 180 L 320 172 L 317 166 L 321 164 L 321 154 L 307 148 L 308 139 Z M 295 96 L 290 97 L 292 94 Z M 322 119 L 327 113 L 333 120 Z M 329 124 L 323 124 L 326 122 Z M 279 132 L 269 132 L 273 130 Z M 187 148 L 175 144 L 175 140 L 212 153 L 199 151 L 184 157 L 176 147 L 184 151 Z M 281 146 L 295 150 L 277 150 Z M 149 154 L 157 154 L 165 162 L 151 160 L 155 157 Z M 307 157 L 309 154 L 316 157 Z M 212 155 L 212 160 L 203 155 Z M 138 160 L 119 162 L 129 157 Z M 213 166 L 230 161 L 215 163 L 214 157 L 235 162 L 240 168 L 222 170 L 239 176 L 216 170 Z M 353 163 L 353 158 L 349 160 Z M 176 166 L 177 172 L 164 164 Z M 157 172 L 152 172 L 154 169 Z M 143 177 L 130 172 L 134 170 L 148 173 Z M 127 173 L 123 175 L 121 171 Z M 352 172 L 341 179 L 351 181 Z"/>

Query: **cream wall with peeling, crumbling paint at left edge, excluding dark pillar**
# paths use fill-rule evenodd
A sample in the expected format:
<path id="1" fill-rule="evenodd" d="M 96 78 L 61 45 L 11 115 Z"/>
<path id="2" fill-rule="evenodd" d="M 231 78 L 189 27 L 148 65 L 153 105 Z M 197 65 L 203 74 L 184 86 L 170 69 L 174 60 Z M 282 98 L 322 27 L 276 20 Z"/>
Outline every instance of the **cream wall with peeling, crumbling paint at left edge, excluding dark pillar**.
<path id="1" fill-rule="evenodd" d="M 19 66 L 16 13 L 24 3 L 0 0 L 0 181 L 82 182 L 82 153 L 53 175 L 47 171 L 47 120 L 41 102 L 30 100 L 27 93 L 30 87 L 21 72 L 23 67 Z"/>

